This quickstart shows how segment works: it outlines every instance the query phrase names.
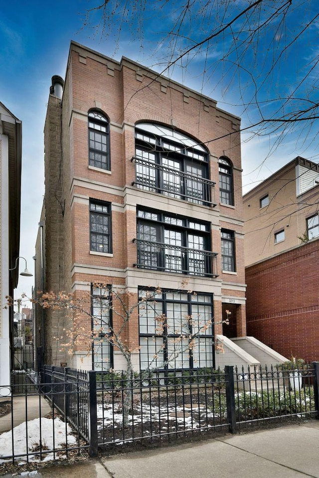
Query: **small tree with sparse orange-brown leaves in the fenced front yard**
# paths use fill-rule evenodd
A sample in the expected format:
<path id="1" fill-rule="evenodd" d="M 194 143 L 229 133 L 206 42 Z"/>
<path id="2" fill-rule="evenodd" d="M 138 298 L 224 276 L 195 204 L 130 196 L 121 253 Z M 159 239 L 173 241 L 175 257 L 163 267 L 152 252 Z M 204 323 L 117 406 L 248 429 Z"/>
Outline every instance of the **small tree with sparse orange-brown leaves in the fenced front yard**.
<path id="1" fill-rule="evenodd" d="M 181 288 L 174 290 L 173 293 L 178 293 L 186 285 L 187 281 L 184 281 Z M 60 337 L 55 337 L 59 346 L 66 349 L 69 354 L 72 355 L 74 350 L 79 349 L 86 350 L 88 355 L 92 351 L 99 354 L 103 343 L 108 343 L 121 352 L 126 362 L 127 377 L 127 393 L 123 402 L 124 426 L 128 423 L 129 410 L 132 406 L 131 392 L 134 378 L 132 354 L 140 348 L 139 344 L 132 340 L 129 328 L 134 327 L 132 322 L 138 314 L 141 318 L 146 308 L 148 308 L 148 312 L 152 311 L 155 321 L 154 343 L 156 343 L 157 337 L 163 337 L 161 345 L 156 346 L 153 357 L 150 357 L 147 367 L 143 370 L 146 376 L 150 376 L 157 369 L 164 369 L 169 364 L 173 365 L 179 356 L 194 355 L 200 346 L 199 338 L 205 335 L 208 329 L 212 329 L 212 325 L 216 323 L 213 317 L 207 319 L 207 317 L 184 315 L 180 318 L 179 326 L 175 327 L 172 333 L 165 335 L 163 331 L 167 327 L 168 320 L 164 314 L 159 313 L 157 308 L 161 293 L 162 290 L 157 287 L 144 290 L 137 297 L 134 293 L 117 290 L 116 286 L 111 288 L 106 284 L 96 283 L 92 285 L 91 292 L 83 292 L 77 297 L 72 293 L 47 292 L 32 299 L 33 303 L 39 304 L 44 309 L 64 311 L 69 315 L 70 326 L 63 329 Z M 195 295 L 191 291 L 187 291 L 187 293 Z M 223 323 L 229 323 L 229 315 L 230 312 L 226 311 Z M 213 346 L 213 341 L 211 346 Z M 215 347 L 222 351 L 222 345 L 215 345 Z M 159 355 L 164 349 L 166 353 L 163 354 L 163 357 L 165 356 L 165 358 L 159 359 Z M 110 363 L 105 362 L 101 372 L 109 369 Z"/>

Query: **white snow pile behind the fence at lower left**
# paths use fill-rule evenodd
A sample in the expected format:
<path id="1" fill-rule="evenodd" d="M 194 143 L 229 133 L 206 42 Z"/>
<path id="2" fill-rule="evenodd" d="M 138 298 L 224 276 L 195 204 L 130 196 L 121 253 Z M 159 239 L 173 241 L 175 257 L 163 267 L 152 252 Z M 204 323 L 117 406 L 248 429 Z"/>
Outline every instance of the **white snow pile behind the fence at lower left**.
<path id="1" fill-rule="evenodd" d="M 41 423 L 40 423 L 41 421 Z M 42 443 L 42 460 L 40 460 L 40 425 L 41 425 L 41 443 Z M 26 462 L 26 454 L 32 452 L 38 452 L 36 455 L 29 455 L 29 462 L 46 462 L 50 460 L 58 460 L 65 458 L 65 455 L 55 456 L 53 453 L 45 453 L 46 450 L 53 449 L 53 435 L 54 435 L 54 447 L 55 449 L 66 448 L 70 445 L 76 444 L 76 438 L 71 435 L 71 428 L 66 425 L 59 418 L 54 420 L 49 418 L 36 418 L 26 423 L 21 423 L 17 427 L 13 428 L 13 431 L 8 431 L 0 435 L 0 464 L 8 461 L 2 457 L 12 457 L 12 432 L 13 432 L 13 453 L 14 456 L 25 455 L 20 457 L 19 465 Z M 27 439 L 26 439 L 27 434 Z"/>

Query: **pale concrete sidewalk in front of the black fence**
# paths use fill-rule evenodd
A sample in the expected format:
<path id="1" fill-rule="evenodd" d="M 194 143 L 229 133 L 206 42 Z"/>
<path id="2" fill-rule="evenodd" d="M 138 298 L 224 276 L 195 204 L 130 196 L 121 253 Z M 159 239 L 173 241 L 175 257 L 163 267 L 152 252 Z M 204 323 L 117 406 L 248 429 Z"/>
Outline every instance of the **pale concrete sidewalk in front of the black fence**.
<path id="1" fill-rule="evenodd" d="M 31 474 L 34 478 L 319 478 L 319 420 Z"/>

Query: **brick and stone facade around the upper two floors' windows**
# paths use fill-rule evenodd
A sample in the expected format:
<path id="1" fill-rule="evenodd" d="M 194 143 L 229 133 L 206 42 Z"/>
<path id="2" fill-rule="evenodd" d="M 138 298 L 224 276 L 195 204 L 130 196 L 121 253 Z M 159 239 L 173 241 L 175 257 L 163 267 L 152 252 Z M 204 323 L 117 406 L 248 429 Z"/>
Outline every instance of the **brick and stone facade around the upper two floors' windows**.
<path id="1" fill-rule="evenodd" d="M 51 109 L 55 108 L 53 118 Z M 110 170 L 88 165 L 88 113 L 101 112 L 110 126 Z M 52 123 L 51 117 L 54 119 Z M 62 119 L 62 123 L 60 121 Z M 58 121 L 59 120 L 59 121 Z M 214 206 L 147 191 L 135 184 L 135 126 L 139 122 L 163 125 L 187 135 L 208 153 L 208 178 Z M 62 125 L 62 151 L 52 130 Z M 147 68 L 122 59 L 116 62 L 71 43 L 62 102 L 50 96 L 45 127 L 46 164 L 46 284 L 56 291 L 88 290 L 93 282 L 137 294 L 138 287 L 180 287 L 182 274 L 136 268 L 137 210 L 167 211 L 187 220 L 209 224 L 211 251 L 217 253 L 217 277 L 187 275 L 188 288 L 213 294 L 214 320 L 222 319 L 222 303 L 236 307 L 234 330 L 245 330 L 245 275 L 241 196 L 240 120 L 219 110 L 216 102 Z M 51 134 L 50 134 L 51 132 Z M 52 143 L 53 142 L 53 143 Z M 56 150 L 54 148 L 56 147 Z M 219 202 L 218 159 L 232 164 L 234 204 Z M 56 180 L 58 184 L 56 185 Z M 58 189 L 57 189 L 58 187 Z M 56 197 L 55 191 L 59 195 Z M 112 253 L 90 251 L 90 200 L 111 207 Z M 63 204 L 63 214 L 61 206 Z M 221 268 L 221 228 L 233 231 L 236 270 Z M 63 249 L 60 249 L 60 243 Z M 48 265 L 52 265 L 48 267 Z M 51 272 L 52 271 L 52 272 Z M 60 271 L 60 273 L 58 272 Z M 57 280 L 51 274 L 60 274 Z M 237 313 L 236 313 L 237 311 Z M 57 323 L 52 321 L 50 323 Z M 216 325 L 215 334 L 221 332 Z M 52 335 L 55 333 L 52 327 Z M 132 347 L 139 346 L 138 316 L 127 330 Z M 68 363 L 69 363 L 68 359 Z M 54 359 L 53 359 L 54 361 Z"/>

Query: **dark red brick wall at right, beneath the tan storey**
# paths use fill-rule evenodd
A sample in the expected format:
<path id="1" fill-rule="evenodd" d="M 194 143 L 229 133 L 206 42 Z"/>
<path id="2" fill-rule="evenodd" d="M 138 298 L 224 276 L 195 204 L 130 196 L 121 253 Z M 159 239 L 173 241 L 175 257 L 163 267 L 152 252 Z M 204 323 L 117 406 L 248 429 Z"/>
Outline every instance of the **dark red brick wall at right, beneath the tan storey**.
<path id="1" fill-rule="evenodd" d="M 319 360 L 319 239 L 246 268 L 247 335 Z"/>

